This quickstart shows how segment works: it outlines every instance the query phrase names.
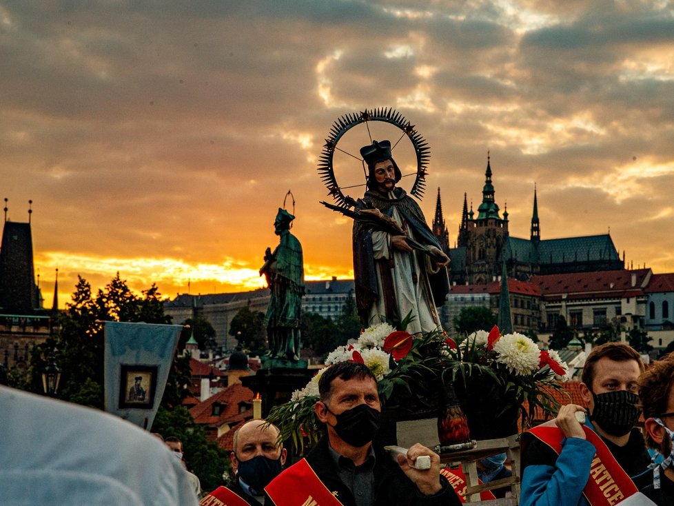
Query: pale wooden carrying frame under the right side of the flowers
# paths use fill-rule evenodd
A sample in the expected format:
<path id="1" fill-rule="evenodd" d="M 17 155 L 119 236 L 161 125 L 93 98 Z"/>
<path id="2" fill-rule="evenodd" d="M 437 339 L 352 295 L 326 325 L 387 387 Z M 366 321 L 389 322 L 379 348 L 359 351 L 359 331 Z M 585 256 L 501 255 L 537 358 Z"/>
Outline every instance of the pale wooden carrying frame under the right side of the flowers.
<path id="1" fill-rule="evenodd" d="M 490 455 L 505 452 L 506 464 L 511 468 L 513 476 L 489 483 L 478 482 L 477 461 Z M 467 503 L 484 506 L 517 506 L 520 499 L 520 435 L 513 434 L 507 438 L 483 439 L 477 441 L 476 447 L 456 452 L 440 454 L 440 462 L 448 467 L 460 466 L 467 482 Z M 480 492 L 502 487 L 510 487 L 510 496 L 494 500 L 480 500 Z"/>

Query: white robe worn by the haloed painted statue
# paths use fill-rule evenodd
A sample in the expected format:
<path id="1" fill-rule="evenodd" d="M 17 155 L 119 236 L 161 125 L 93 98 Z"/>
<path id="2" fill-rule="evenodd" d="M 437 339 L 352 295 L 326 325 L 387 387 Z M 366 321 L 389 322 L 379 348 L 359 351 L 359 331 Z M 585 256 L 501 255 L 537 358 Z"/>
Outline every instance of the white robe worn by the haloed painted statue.
<path id="1" fill-rule="evenodd" d="M 393 208 L 392 217 L 402 225 L 402 219 L 400 219 L 400 214 L 398 214 L 398 210 L 395 207 Z M 409 228 L 407 235 L 412 239 L 416 239 Z M 428 246 L 428 248 L 430 250 L 432 246 Z M 391 234 L 387 232 L 372 232 L 372 250 L 375 260 L 391 259 L 393 257 L 394 268 L 391 270 L 391 275 L 393 277 L 394 290 L 396 291 L 396 302 L 398 303 L 400 320 L 405 318 L 410 312 L 412 316 L 415 316 L 405 330 L 410 334 L 442 330 L 435 304 L 429 305 L 428 303 L 429 300 L 433 300 L 433 296 L 430 293 L 426 274 L 426 270 L 430 267 L 430 263 L 426 261 L 427 257 L 424 255 L 421 259 L 418 259 L 418 256 L 422 255 L 422 253 L 416 250 L 412 252 L 397 250 L 396 247 L 391 245 Z M 378 262 L 375 262 L 375 265 L 377 269 L 377 290 L 379 294 L 383 294 L 381 268 Z M 424 265 L 424 268 L 420 267 L 420 265 Z M 417 274 L 417 283 L 413 282 L 413 272 Z M 370 325 L 380 323 L 381 316 L 385 314 L 384 297 L 379 296 L 370 308 L 368 318 Z"/>

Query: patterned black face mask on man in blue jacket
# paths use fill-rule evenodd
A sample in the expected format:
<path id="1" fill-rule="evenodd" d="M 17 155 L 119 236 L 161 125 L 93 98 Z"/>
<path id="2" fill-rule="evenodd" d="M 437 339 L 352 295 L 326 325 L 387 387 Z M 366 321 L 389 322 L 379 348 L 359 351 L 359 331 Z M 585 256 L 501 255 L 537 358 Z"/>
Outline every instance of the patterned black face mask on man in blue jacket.
<path id="1" fill-rule="evenodd" d="M 641 410 L 636 407 L 639 401 L 637 394 L 627 390 L 615 390 L 603 394 L 592 393 L 595 401 L 590 418 L 596 422 L 606 434 L 624 436 L 629 434 L 637 423 Z"/>

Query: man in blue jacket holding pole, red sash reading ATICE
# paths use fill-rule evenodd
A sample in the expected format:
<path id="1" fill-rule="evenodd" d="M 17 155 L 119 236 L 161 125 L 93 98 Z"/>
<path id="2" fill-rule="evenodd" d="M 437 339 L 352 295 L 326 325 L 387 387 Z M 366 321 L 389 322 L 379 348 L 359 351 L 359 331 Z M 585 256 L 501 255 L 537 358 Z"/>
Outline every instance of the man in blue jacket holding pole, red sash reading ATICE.
<path id="1" fill-rule="evenodd" d="M 585 422 L 577 413 L 586 409 L 569 404 L 555 420 L 522 436 L 521 506 L 615 505 L 637 492 L 650 463 L 644 437 L 634 428 L 643 370 L 639 354 L 624 343 L 592 350 L 580 385 Z"/>

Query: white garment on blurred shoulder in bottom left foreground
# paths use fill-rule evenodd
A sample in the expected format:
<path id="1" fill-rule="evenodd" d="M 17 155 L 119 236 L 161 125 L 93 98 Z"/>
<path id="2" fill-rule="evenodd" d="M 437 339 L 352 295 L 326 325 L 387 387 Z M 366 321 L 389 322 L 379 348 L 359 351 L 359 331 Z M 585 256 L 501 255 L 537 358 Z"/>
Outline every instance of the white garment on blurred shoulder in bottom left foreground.
<path id="1" fill-rule="evenodd" d="M 0 386 L 0 505 L 198 505 L 156 437 L 96 409 Z"/>

